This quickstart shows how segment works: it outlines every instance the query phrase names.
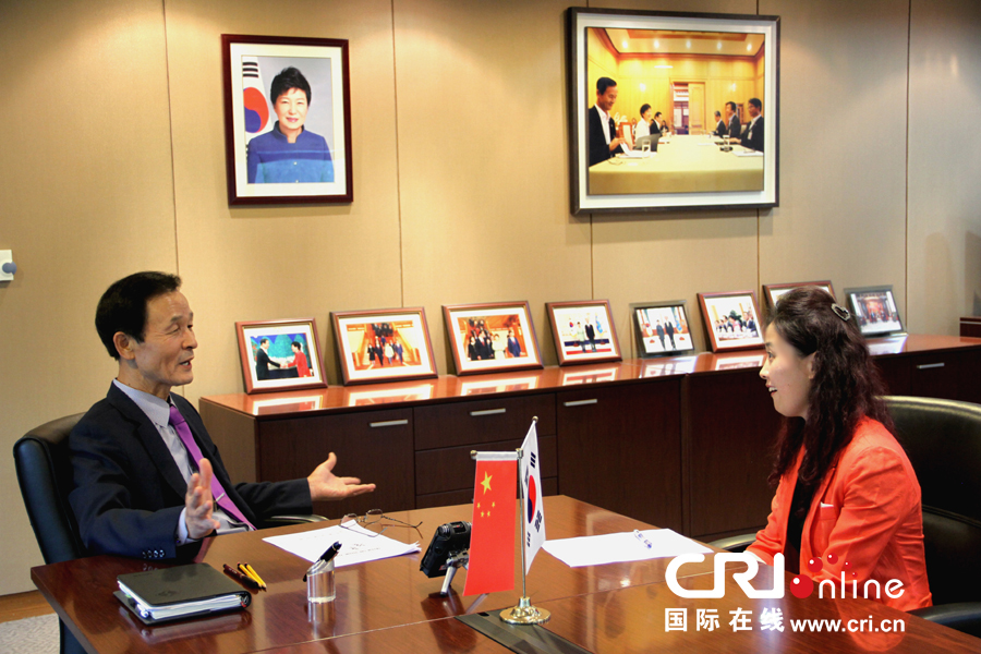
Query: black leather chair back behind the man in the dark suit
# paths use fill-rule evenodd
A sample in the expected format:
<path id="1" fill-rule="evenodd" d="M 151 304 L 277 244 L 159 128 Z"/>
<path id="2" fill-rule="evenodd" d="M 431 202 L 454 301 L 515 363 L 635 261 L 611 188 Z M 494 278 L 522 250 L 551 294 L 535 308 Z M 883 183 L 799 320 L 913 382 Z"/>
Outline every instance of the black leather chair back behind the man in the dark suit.
<path id="1" fill-rule="evenodd" d="M 72 489 L 68 435 L 82 415 L 69 415 L 35 427 L 14 444 L 21 495 L 46 564 L 85 556 L 75 514 L 68 501 Z"/>

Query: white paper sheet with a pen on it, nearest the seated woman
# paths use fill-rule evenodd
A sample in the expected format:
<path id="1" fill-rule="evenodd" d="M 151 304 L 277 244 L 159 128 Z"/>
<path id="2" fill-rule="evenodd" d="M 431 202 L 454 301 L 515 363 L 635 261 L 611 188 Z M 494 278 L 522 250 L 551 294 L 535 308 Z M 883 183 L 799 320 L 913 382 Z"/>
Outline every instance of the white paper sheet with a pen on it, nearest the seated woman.
<path id="1" fill-rule="evenodd" d="M 582 566 L 602 566 L 625 561 L 642 561 L 679 554 L 702 553 L 712 550 L 699 545 L 691 538 L 669 529 L 652 529 L 641 532 L 653 547 L 647 547 L 633 532 L 605 534 L 602 536 L 581 536 L 545 541 L 545 552 L 559 559 L 570 568 Z"/>

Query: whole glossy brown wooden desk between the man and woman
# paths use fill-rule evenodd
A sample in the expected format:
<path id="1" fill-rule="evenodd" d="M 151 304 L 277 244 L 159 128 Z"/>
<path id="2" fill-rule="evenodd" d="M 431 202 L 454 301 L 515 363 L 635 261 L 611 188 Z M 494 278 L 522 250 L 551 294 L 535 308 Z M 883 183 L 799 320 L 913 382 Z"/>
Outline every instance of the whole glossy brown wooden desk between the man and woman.
<path id="1" fill-rule="evenodd" d="M 391 526 L 386 535 L 412 542 L 425 550 L 436 528 L 453 520 L 470 520 L 471 505 L 393 512 L 408 522 L 423 521 L 421 535 L 405 526 Z M 637 520 L 555 496 L 545 498 L 546 530 L 550 540 L 650 529 Z M 462 597 L 465 571 L 453 581 L 455 593 L 440 597 L 441 578 L 419 571 L 422 553 L 339 568 L 337 600 L 313 607 L 302 581 L 308 564 L 264 543 L 263 537 L 325 524 L 279 528 L 231 534 L 206 541 L 197 560 L 221 569 L 247 560 L 265 579 L 267 591 L 253 593 L 247 609 L 213 618 L 145 627 L 112 596 L 116 577 L 167 567 L 112 556 L 33 568 L 31 577 L 58 615 L 88 652 L 497 652 L 507 650 L 453 619 L 453 616 L 493 611 L 518 603 L 521 583 L 516 565 L 517 592 Z M 516 540 L 517 541 L 517 540 Z M 517 542 L 516 542 L 517 548 Z M 520 561 L 520 557 L 516 560 Z M 532 602 L 552 611 L 546 628 L 591 652 L 673 651 L 732 652 L 978 652 L 981 640 L 927 622 L 865 600 L 749 600 L 727 578 L 722 600 L 685 600 L 665 583 L 670 559 L 569 568 L 540 553 L 528 578 Z M 713 584 L 712 557 L 679 572 L 687 588 Z M 772 569 L 762 567 L 753 580 L 772 588 Z M 783 632 L 762 631 L 764 607 L 783 610 Z M 719 628 L 695 629 L 695 611 L 718 611 Z M 730 610 L 752 611 L 751 631 L 734 632 Z M 666 609 L 687 609 L 686 631 L 666 630 Z M 794 632 L 791 619 L 903 620 L 900 633 Z M 872 622 L 870 622 L 872 623 Z M 857 622 L 856 622 L 857 625 Z M 881 646 L 880 646 L 881 645 Z"/>

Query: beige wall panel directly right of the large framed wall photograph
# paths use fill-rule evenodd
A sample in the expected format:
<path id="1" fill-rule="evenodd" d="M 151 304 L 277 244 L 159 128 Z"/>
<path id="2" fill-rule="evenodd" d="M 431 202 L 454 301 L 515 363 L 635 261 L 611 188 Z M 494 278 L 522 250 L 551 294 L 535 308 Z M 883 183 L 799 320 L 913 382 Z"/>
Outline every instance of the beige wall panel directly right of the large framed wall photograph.
<path id="1" fill-rule="evenodd" d="M 905 310 L 906 142 L 887 125 L 903 124 L 907 7 L 761 2 L 783 40 L 780 206 L 761 216 L 760 283 L 892 283 Z"/>

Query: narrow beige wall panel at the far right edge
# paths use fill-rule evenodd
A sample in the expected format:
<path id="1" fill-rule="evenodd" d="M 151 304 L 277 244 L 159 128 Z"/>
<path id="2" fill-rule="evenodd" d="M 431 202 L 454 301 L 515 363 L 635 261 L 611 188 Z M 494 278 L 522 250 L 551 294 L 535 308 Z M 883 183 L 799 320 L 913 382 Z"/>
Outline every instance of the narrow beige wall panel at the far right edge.
<path id="1" fill-rule="evenodd" d="M 957 334 L 981 314 L 981 4 L 912 3 L 907 327 Z"/>

